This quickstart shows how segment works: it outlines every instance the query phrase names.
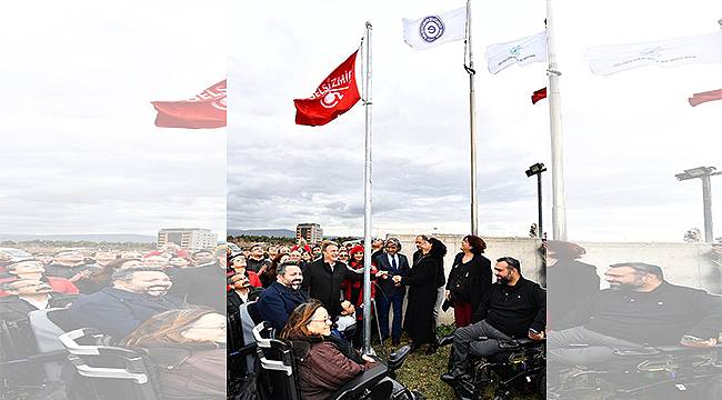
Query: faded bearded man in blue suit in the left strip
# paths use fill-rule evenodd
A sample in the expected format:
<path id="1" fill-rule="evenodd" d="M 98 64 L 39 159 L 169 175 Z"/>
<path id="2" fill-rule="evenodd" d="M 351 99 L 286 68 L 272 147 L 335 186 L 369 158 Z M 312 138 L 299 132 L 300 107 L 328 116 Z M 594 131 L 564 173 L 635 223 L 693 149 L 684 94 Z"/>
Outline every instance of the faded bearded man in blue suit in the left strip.
<path id="1" fill-rule="evenodd" d="M 111 279 L 112 287 L 82 296 L 70 306 L 69 326 L 96 328 L 121 340 L 150 317 L 188 307 L 178 298 L 166 296 L 172 283 L 159 268 L 121 269 Z"/>

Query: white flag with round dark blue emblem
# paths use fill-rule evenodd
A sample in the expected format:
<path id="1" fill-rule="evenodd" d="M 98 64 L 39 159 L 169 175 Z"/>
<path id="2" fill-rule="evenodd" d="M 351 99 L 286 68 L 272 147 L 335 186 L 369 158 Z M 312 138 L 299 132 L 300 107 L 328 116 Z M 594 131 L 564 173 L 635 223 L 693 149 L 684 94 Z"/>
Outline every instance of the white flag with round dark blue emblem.
<path id="1" fill-rule="evenodd" d="M 467 37 L 467 8 L 427 16 L 415 20 L 403 19 L 403 41 L 417 50 L 425 50 Z"/>

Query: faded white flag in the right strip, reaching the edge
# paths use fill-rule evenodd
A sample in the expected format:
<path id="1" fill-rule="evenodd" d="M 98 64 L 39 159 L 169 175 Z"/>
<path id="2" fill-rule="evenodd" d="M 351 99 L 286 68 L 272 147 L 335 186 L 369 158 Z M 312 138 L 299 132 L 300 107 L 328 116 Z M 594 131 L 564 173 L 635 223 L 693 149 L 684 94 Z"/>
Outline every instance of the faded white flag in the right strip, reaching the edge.
<path id="1" fill-rule="evenodd" d="M 586 49 L 586 63 L 592 72 L 600 76 L 645 66 L 679 67 L 693 62 L 722 62 L 722 31 Z"/>

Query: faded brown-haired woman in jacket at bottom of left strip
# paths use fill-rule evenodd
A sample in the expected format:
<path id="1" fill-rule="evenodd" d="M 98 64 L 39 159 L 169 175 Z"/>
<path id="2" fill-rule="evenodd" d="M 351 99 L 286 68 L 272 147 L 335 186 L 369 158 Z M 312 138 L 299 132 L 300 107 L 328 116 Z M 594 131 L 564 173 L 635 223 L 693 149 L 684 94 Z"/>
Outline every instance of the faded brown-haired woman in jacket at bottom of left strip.
<path id="1" fill-rule="evenodd" d="M 123 343 L 146 349 L 160 367 L 164 400 L 225 399 L 225 317 L 212 309 L 162 312 Z"/>

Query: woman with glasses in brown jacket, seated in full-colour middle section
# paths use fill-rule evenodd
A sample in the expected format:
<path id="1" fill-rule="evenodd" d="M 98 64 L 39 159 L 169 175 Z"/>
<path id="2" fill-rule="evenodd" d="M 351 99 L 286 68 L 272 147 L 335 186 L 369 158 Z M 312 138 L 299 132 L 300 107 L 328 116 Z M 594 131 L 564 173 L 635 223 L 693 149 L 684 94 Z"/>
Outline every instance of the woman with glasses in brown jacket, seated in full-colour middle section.
<path id="1" fill-rule="evenodd" d="M 375 362 L 331 334 L 329 312 L 317 300 L 302 303 L 291 312 L 281 339 L 293 348 L 303 400 L 327 399 Z"/>

